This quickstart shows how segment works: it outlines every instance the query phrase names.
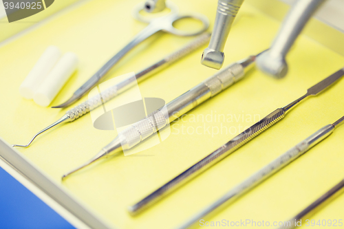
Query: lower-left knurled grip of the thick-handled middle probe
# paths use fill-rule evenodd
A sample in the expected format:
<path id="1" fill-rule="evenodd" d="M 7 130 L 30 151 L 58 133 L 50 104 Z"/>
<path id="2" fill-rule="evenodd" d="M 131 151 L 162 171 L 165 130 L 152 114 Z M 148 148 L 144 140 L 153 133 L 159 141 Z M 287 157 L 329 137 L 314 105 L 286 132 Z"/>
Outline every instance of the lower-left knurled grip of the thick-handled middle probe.
<path id="1" fill-rule="evenodd" d="M 169 123 L 168 120 L 169 118 L 162 111 L 157 110 L 149 114 L 147 118 L 132 124 L 131 127 L 118 133 L 122 149 L 131 149 L 131 147 L 139 144 L 153 135 L 153 133 L 165 127 Z"/>

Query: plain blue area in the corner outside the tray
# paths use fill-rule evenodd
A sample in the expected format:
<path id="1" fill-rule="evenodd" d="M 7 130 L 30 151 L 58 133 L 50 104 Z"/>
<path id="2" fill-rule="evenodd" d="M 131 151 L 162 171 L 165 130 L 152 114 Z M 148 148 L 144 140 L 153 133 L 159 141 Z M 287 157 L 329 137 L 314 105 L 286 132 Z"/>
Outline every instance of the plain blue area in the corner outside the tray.
<path id="1" fill-rule="evenodd" d="M 0 167 L 0 228 L 74 228 Z"/>

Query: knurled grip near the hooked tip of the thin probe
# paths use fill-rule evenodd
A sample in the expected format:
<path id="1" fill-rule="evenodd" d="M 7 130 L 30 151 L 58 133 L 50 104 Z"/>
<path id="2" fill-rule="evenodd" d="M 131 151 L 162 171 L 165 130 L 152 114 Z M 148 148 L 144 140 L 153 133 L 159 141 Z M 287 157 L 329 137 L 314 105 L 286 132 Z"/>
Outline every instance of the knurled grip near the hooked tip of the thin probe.
<path id="1" fill-rule="evenodd" d="M 81 103 L 80 105 L 74 107 L 73 109 L 70 109 L 66 112 L 66 115 L 69 116 L 69 119 L 72 122 L 80 118 L 81 116 L 85 115 L 86 113 L 89 113 L 89 111 L 96 109 L 97 107 L 102 105 L 103 102 L 105 103 L 111 100 L 111 98 L 116 97 L 117 91 L 117 85 L 109 87 L 101 94 L 98 94 L 90 98 L 89 100 L 86 100 L 85 102 Z"/>

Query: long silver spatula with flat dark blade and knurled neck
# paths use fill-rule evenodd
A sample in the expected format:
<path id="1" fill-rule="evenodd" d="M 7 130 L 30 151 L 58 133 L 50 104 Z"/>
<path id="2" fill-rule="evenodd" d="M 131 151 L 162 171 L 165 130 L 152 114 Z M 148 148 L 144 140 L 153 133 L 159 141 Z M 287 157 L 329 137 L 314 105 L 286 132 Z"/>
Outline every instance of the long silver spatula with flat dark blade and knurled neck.
<path id="1" fill-rule="evenodd" d="M 325 80 L 308 89 L 307 94 L 305 94 L 301 98 L 298 98 L 289 105 L 286 105 L 286 107 L 276 109 L 268 116 L 266 116 L 256 124 L 253 124 L 250 128 L 246 129 L 244 132 L 240 133 L 235 138 L 219 147 L 219 149 L 204 157 L 202 160 L 200 160 L 200 162 L 197 162 L 190 168 L 186 169 L 186 171 L 180 173 L 180 175 L 178 175 L 177 177 L 171 179 L 171 181 L 167 182 L 157 190 L 153 191 L 153 193 L 149 194 L 147 197 L 144 197 L 144 199 L 138 201 L 138 203 L 134 204 L 133 206 L 129 206 L 129 212 L 134 215 L 143 210 L 144 208 L 147 208 L 150 205 L 154 204 L 159 199 L 162 199 L 162 197 L 168 195 L 173 190 L 179 188 L 189 180 L 193 179 L 193 177 L 204 172 L 206 169 L 213 166 L 220 160 L 224 159 L 224 157 L 230 155 L 231 153 L 239 149 L 241 146 L 244 146 L 244 144 L 250 142 L 250 140 L 255 138 L 257 135 L 271 127 L 273 124 L 275 124 L 282 118 L 284 118 L 286 113 L 288 113 L 288 111 L 290 111 L 292 107 L 301 102 L 301 100 L 307 98 L 308 96 L 318 95 L 319 93 L 321 93 L 321 91 L 327 89 L 327 87 L 334 84 L 339 78 L 343 77 L 343 75 L 344 69 L 338 70 L 338 72 L 335 72 L 331 76 L 325 78 Z"/>

